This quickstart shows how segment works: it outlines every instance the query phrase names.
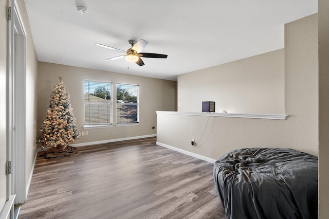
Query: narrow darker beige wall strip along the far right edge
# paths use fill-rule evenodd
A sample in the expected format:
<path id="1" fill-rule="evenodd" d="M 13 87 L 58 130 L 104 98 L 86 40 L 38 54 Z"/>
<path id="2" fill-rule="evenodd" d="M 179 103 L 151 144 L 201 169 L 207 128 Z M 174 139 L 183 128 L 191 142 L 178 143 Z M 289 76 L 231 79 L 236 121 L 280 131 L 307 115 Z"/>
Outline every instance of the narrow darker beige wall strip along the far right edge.
<path id="1" fill-rule="evenodd" d="M 319 218 L 329 215 L 329 1 L 319 0 Z"/>

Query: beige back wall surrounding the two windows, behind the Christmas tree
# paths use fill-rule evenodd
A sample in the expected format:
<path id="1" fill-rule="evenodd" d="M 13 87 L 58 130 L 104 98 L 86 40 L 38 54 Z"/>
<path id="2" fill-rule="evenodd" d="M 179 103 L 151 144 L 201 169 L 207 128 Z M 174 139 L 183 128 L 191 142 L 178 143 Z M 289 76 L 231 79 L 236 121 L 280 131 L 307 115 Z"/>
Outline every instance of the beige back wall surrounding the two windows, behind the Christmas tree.
<path id="1" fill-rule="evenodd" d="M 53 86 L 59 83 L 59 76 L 63 78 L 63 83 L 70 95 L 70 102 L 79 131 L 88 131 L 87 136 L 81 136 L 74 143 L 155 135 L 156 129 L 152 129 L 152 126 L 157 126 L 155 111 L 176 111 L 177 109 L 177 82 L 175 81 L 39 62 L 38 128 L 41 127 L 46 114 Z M 139 85 L 139 125 L 121 127 L 114 125 L 113 127 L 84 130 L 84 80 L 112 82 L 113 86 L 116 86 L 116 83 Z M 113 104 L 115 109 L 116 101 L 113 101 Z M 115 122 L 116 112 L 113 111 L 113 114 L 113 121 Z"/>

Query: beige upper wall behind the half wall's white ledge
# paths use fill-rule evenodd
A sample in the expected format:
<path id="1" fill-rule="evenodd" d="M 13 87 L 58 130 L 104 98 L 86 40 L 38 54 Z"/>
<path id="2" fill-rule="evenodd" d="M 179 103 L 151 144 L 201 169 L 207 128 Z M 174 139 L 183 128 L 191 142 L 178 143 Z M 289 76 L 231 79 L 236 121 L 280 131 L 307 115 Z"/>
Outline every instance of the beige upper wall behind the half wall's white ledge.
<path id="1" fill-rule="evenodd" d="M 284 114 L 284 49 L 179 75 L 178 90 L 178 112 Z"/>

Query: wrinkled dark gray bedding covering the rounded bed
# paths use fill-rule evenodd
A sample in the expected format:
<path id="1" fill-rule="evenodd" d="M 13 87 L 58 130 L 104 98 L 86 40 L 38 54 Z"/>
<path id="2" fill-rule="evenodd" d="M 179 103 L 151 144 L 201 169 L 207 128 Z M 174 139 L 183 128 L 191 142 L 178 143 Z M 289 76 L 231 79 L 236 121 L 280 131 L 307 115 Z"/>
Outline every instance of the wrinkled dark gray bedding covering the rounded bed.
<path id="1" fill-rule="evenodd" d="M 250 148 L 214 163 L 226 218 L 318 218 L 318 158 L 291 149 Z"/>

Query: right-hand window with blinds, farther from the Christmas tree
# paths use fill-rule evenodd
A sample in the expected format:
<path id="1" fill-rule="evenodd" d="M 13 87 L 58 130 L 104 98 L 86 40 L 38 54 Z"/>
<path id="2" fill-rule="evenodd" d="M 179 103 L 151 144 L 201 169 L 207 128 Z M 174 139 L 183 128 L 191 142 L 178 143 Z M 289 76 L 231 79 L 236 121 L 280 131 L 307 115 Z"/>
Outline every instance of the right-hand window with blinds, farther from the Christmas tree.
<path id="1" fill-rule="evenodd" d="M 139 122 L 139 86 L 117 84 L 117 124 Z"/>

